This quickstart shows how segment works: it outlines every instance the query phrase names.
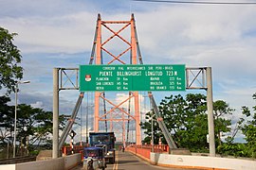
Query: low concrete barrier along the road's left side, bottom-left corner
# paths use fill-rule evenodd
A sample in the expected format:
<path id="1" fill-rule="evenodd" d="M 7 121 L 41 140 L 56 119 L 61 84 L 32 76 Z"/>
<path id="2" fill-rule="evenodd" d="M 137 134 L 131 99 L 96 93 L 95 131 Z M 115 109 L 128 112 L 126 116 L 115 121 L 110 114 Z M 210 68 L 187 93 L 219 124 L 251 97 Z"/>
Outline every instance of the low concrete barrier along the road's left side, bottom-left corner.
<path id="1" fill-rule="evenodd" d="M 81 163 L 81 154 L 74 154 L 46 161 L 29 161 L 0 165 L 0 170 L 68 170 Z"/>

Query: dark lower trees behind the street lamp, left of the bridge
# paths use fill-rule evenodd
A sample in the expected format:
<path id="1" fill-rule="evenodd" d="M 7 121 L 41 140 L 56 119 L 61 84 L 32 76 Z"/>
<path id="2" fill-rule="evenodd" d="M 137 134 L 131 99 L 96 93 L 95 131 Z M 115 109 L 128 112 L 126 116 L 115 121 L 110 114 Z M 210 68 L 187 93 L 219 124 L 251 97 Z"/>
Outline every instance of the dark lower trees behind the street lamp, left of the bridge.
<path id="1" fill-rule="evenodd" d="M 14 106 L 9 106 L 8 96 L 0 96 L 0 145 L 13 144 Z M 65 116 L 60 116 L 60 129 L 64 128 Z M 29 139 L 29 145 L 49 146 L 52 136 L 52 111 L 32 108 L 21 104 L 17 107 L 16 138 L 19 143 Z"/>

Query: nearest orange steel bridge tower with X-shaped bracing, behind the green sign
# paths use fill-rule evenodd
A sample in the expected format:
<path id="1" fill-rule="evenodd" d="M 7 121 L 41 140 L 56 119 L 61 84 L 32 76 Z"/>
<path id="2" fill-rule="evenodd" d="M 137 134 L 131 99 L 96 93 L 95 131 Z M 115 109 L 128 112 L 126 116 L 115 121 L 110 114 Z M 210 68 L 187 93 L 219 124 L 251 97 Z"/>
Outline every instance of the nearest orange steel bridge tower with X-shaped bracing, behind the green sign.
<path id="1" fill-rule="evenodd" d="M 127 29 L 130 30 L 127 31 Z M 103 32 L 103 30 L 105 32 Z M 110 35 L 107 33 L 110 33 Z M 130 34 L 130 36 L 128 34 Z M 120 42 L 115 43 L 114 39 L 119 39 Z M 112 41 L 114 41 L 114 48 L 113 46 L 109 45 Z M 124 45 L 122 46 L 121 43 Z M 117 53 L 118 50 L 120 52 Z M 102 54 L 106 54 L 109 60 L 103 59 Z M 130 21 L 102 21 L 101 15 L 98 14 L 92 54 L 89 63 L 107 65 L 115 63 L 142 64 L 142 58 L 140 55 L 137 41 L 137 30 L 134 14 L 131 15 Z M 97 132 L 100 130 L 100 121 L 105 121 L 105 126 L 106 122 L 110 122 L 111 129 L 113 129 L 113 122 L 134 120 L 136 122 L 136 144 L 141 144 L 138 92 L 129 92 L 125 99 L 122 99 L 122 101 L 118 101 L 118 104 L 107 98 L 105 94 L 105 92 L 95 92 L 94 131 Z M 111 105 L 112 108 L 109 110 L 107 108 L 104 108 L 103 112 L 101 112 L 100 100 L 103 101 L 104 106 L 105 103 L 107 103 Z M 130 111 L 130 109 L 128 109 L 129 111 L 127 111 L 123 109 L 123 106 L 125 103 L 130 102 L 130 100 L 134 101 L 134 110 Z M 113 114 L 113 112 L 117 112 L 116 110 L 119 110 L 121 114 L 119 118 L 117 118 L 117 116 L 111 115 Z M 133 112 L 134 114 L 132 114 L 131 112 Z M 122 114 L 127 115 L 128 118 L 124 119 Z"/>

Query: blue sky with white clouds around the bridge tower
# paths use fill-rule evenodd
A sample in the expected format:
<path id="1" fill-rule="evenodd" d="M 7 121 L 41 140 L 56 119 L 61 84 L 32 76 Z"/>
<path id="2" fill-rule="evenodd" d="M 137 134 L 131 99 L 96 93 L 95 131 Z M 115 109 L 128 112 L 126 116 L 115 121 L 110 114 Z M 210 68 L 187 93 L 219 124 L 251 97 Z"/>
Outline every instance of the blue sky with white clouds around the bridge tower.
<path id="1" fill-rule="evenodd" d="M 256 92 L 255 6 L 128 0 L 0 1 L 0 26 L 19 34 L 15 44 L 23 55 L 24 80 L 31 81 L 21 85 L 19 102 L 52 110 L 52 69 L 89 62 L 98 13 L 102 20 L 130 20 L 135 14 L 145 64 L 212 67 L 213 99 L 236 109 L 232 122 L 242 106 L 255 106 L 251 97 Z M 61 92 L 61 113 L 73 110 L 78 93 Z M 160 101 L 166 94 L 155 97 Z M 113 94 L 116 99 L 120 96 Z"/>

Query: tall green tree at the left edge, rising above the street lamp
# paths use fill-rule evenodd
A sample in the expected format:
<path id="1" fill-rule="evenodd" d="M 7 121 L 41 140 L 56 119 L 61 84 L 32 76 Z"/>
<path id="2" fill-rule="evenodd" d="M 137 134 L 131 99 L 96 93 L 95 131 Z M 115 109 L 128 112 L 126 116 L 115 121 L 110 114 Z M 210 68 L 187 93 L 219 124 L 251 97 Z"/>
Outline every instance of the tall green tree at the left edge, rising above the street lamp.
<path id="1" fill-rule="evenodd" d="M 23 68 L 18 65 L 22 56 L 13 44 L 16 35 L 0 27 L 0 89 L 7 88 L 8 93 L 14 91 L 16 80 L 23 77 Z"/>

